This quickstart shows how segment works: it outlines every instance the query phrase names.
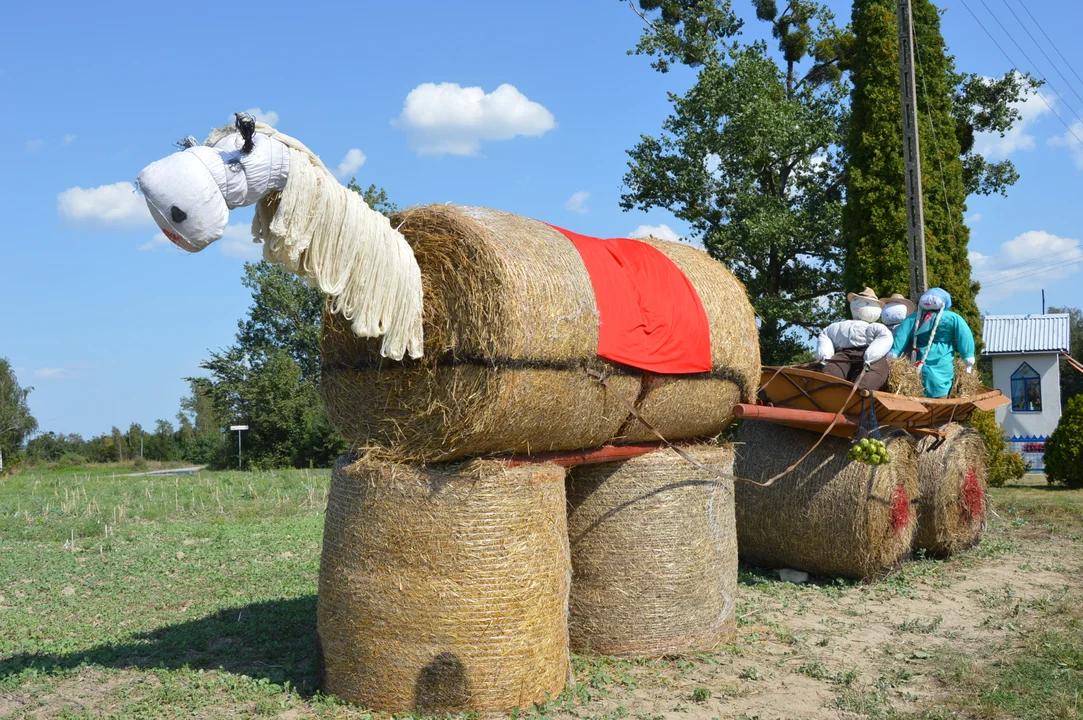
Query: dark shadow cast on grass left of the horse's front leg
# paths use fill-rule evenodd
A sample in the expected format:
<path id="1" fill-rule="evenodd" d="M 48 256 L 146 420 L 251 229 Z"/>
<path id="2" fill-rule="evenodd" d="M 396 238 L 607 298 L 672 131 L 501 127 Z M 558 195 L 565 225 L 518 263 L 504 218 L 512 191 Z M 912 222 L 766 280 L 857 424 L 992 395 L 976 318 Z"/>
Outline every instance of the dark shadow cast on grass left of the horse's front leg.
<path id="1" fill-rule="evenodd" d="M 0 658 L 0 681 L 27 669 L 49 672 L 82 665 L 222 669 L 288 682 L 301 695 L 311 696 L 319 683 L 316 595 L 230 607 L 141 632 L 130 642 L 66 655 L 23 653 Z"/>

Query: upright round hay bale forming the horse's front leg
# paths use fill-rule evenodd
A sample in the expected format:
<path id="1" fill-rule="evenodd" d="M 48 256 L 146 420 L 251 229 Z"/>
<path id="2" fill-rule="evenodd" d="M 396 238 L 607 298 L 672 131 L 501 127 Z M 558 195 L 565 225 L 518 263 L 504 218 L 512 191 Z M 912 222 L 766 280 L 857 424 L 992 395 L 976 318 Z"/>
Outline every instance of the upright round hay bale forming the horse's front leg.
<path id="1" fill-rule="evenodd" d="M 389 712 L 497 712 L 570 673 L 564 469 L 340 458 L 317 629 L 327 693 Z"/>

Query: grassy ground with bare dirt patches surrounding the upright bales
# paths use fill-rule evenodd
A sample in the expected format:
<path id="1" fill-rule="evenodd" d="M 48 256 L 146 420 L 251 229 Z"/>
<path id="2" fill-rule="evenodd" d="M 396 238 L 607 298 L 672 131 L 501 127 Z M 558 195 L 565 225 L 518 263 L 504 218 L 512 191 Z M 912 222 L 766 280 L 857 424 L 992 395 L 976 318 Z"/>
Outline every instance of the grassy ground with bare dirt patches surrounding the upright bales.
<path id="1" fill-rule="evenodd" d="M 326 471 L 0 481 L 0 717 L 368 717 L 316 686 Z M 876 584 L 744 567 L 738 642 L 576 658 L 544 718 L 1083 718 L 1083 493 Z"/>

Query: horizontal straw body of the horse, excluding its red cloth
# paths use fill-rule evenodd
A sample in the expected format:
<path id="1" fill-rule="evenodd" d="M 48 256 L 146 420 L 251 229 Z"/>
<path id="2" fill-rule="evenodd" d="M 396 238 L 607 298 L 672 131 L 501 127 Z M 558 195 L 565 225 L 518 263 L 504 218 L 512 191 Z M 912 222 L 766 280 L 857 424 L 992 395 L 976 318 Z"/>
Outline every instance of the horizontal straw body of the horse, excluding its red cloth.
<path id="1" fill-rule="evenodd" d="M 327 314 L 321 385 L 328 415 L 357 448 L 432 462 L 642 442 L 655 436 L 613 396 L 635 402 L 666 437 L 710 437 L 759 382 L 755 315 L 722 263 L 647 238 L 699 292 L 713 370 L 657 376 L 598 357 L 598 307 L 575 246 L 536 220 L 449 206 L 392 220 L 414 249 L 425 288 L 425 353 L 380 357 Z M 585 369 L 609 375 L 608 392 Z"/>

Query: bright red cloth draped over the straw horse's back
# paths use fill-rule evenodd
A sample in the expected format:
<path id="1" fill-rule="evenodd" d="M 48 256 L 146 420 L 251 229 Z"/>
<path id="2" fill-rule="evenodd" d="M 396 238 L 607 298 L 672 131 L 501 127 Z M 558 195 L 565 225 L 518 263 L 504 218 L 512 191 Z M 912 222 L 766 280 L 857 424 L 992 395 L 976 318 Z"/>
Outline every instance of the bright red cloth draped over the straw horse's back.
<path id="1" fill-rule="evenodd" d="M 575 245 L 598 302 L 598 354 L 651 372 L 709 372 L 710 326 L 700 296 L 665 253 L 628 238 L 551 225 Z"/>

